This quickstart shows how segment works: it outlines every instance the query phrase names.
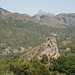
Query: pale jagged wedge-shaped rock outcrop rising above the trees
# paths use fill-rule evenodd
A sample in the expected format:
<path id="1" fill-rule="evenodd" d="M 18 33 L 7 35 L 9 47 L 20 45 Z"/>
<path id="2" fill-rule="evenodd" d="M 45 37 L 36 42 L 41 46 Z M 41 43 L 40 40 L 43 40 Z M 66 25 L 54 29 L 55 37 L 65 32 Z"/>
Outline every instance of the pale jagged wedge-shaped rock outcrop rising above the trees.
<path id="1" fill-rule="evenodd" d="M 31 51 L 27 52 L 25 55 L 21 56 L 20 58 L 29 60 L 32 57 L 37 56 L 41 60 L 43 54 L 46 54 L 48 58 L 50 57 L 57 58 L 60 56 L 60 54 L 58 53 L 58 47 L 55 38 L 48 39 L 45 43 L 33 48 Z"/>

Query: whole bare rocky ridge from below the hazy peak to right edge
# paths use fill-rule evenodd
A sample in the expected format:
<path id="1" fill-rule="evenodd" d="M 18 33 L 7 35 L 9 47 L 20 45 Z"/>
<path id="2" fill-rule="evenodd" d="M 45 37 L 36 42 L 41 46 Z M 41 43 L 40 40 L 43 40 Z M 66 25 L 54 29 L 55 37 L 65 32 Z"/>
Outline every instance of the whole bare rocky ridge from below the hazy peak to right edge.
<path id="1" fill-rule="evenodd" d="M 41 24 L 51 26 L 54 28 L 75 27 L 75 13 L 58 14 L 56 16 L 36 15 L 33 18 L 38 20 Z"/>

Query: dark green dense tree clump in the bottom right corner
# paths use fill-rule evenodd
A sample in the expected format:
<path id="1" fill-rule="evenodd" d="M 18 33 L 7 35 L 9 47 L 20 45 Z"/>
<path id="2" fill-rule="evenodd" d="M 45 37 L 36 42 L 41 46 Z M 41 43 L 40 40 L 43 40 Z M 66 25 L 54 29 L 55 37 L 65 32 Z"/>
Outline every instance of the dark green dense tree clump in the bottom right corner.
<path id="1" fill-rule="evenodd" d="M 60 56 L 53 61 L 54 71 L 60 73 L 75 74 L 75 56 Z"/>

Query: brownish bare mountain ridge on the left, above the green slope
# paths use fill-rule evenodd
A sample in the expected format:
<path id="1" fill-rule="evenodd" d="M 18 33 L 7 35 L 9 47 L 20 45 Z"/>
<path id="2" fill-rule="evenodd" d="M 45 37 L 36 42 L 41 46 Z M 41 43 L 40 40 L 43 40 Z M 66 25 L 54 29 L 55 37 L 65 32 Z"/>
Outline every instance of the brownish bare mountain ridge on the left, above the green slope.
<path id="1" fill-rule="evenodd" d="M 0 8 L 0 12 L 1 12 L 0 19 L 5 20 L 7 22 L 12 23 L 15 20 L 18 20 L 18 21 L 20 20 L 24 23 L 27 21 L 37 22 L 37 20 L 29 16 L 28 14 L 11 13 L 3 8 Z"/>

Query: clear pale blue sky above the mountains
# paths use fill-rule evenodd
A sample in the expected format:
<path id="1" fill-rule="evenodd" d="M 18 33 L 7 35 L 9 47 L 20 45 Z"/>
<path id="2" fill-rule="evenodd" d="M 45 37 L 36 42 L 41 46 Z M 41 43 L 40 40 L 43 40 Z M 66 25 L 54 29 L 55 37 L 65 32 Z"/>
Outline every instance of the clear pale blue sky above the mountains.
<path id="1" fill-rule="evenodd" d="M 0 8 L 31 16 L 40 9 L 57 15 L 75 13 L 75 0 L 0 0 Z"/>

